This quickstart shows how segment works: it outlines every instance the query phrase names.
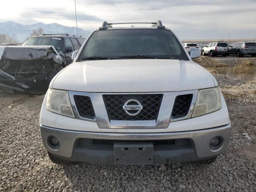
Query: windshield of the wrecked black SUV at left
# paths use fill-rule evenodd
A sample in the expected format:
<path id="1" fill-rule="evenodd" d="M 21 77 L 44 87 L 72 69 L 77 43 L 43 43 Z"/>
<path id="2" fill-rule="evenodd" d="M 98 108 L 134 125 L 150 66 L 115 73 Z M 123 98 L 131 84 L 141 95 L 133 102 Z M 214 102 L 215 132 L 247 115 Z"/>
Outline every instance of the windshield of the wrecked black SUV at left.
<path id="1" fill-rule="evenodd" d="M 62 50 L 62 38 L 59 37 L 30 37 L 22 45 L 50 45 Z"/>

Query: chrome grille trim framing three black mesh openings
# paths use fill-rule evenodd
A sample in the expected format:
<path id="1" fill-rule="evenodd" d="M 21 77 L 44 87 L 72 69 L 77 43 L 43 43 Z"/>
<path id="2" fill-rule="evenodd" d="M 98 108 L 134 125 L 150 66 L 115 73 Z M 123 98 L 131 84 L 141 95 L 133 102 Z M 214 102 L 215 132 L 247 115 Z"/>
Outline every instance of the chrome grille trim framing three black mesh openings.
<path id="1" fill-rule="evenodd" d="M 136 93 L 89 93 L 89 92 L 76 92 L 68 91 L 70 102 L 74 111 L 74 114 L 79 120 L 86 120 L 96 122 L 99 128 L 106 129 L 152 129 L 152 128 L 167 128 L 172 121 L 179 121 L 188 119 L 192 116 L 194 105 L 196 104 L 196 98 L 198 90 L 179 91 L 179 92 L 136 92 Z M 158 113 L 157 120 L 109 120 L 106 107 L 103 100 L 103 94 L 163 94 L 162 103 Z M 182 118 L 172 119 L 172 109 L 176 96 L 184 94 L 193 94 L 192 102 L 188 114 Z M 88 119 L 79 115 L 74 101 L 74 95 L 89 96 L 94 108 L 95 118 Z"/>

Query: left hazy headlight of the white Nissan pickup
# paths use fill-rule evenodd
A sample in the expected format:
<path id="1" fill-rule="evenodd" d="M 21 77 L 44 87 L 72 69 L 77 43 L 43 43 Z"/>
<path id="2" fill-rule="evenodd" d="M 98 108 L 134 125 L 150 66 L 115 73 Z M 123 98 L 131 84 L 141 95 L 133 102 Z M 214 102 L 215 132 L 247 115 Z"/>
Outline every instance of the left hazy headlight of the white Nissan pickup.
<path id="1" fill-rule="evenodd" d="M 68 91 L 48 89 L 46 109 L 60 115 L 75 118 L 68 97 Z"/>

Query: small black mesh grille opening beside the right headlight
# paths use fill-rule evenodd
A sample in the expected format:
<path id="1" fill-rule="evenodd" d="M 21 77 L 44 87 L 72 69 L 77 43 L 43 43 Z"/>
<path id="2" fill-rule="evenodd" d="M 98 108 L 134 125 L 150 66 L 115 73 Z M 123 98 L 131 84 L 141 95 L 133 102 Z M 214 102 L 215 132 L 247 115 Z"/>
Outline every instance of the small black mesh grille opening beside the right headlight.
<path id="1" fill-rule="evenodd" d="M 172 119 L 182 118 L 188 114 L 192 102 L 193 94 L 176 96 L 172 108 Z"/>

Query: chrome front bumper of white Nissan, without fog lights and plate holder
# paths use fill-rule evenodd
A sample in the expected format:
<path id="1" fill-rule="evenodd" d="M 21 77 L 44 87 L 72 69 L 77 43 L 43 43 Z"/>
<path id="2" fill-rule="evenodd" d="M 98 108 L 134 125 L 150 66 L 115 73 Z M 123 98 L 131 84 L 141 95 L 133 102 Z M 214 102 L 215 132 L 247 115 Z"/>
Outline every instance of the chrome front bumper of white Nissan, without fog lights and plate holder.
<path id="1" fill-rule="evenodd" d="M 114 158 L 114 143 L 120 141 L 127 145 L 134 142 L 152 142 L 154 146 L 152 163 L 171 164 L 214 158 L 224 152 L 230 139 L 231 124 L 203 130 L 161 133 L 107 133 L 63 130 L 40 126 L 43 144 L 48 152 L 70 161 L 96 164 L 118 164 Z M 49 137 L 58 138 L 58 149 L 50 148 Z M 210 148 L 214 137 L 222 138 L 218 150 Z M 159 142 L 160 144 L 155 145 Z M 162 144 L 161 144 L 162 141 Z M 169 141 L 167 144 L 165 141 Z M 172 144 L 170 144 L 172 141 Z M 140 162 L 136 164 L 147 164 Z"/>

